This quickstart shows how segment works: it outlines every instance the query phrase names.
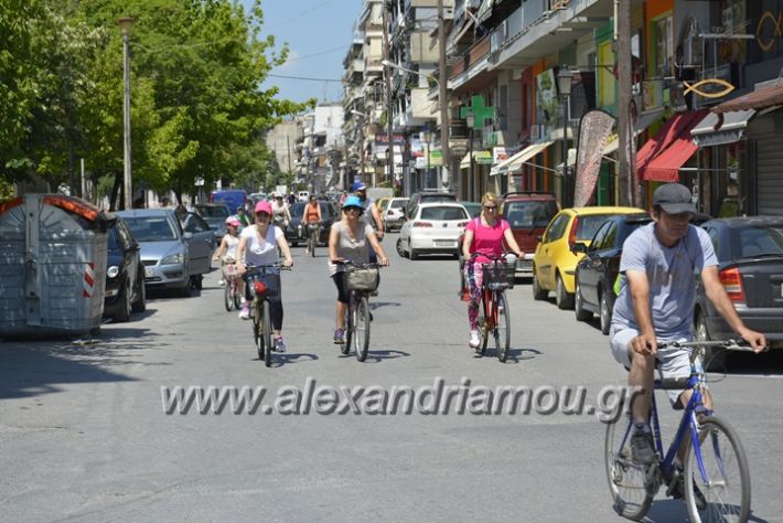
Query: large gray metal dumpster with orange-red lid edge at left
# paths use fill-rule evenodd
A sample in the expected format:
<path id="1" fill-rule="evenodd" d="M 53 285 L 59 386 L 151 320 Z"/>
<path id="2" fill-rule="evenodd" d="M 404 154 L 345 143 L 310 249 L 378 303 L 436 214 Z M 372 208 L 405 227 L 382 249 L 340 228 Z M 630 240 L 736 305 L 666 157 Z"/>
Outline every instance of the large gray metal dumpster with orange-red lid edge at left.
<path id="1" fill-rule="evenodd" d="M 0 337 L 77 335 L 100 327 L 112 220 L 61 194 L 0 202 Z"/>

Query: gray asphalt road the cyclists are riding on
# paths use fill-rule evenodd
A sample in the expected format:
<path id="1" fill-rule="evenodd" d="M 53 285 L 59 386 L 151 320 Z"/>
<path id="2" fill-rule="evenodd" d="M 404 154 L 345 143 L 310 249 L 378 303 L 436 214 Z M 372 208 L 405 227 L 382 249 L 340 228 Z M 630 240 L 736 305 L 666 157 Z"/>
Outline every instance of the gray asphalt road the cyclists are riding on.
<path id="1" fill-rule="evenodd" d="M 527 282 L 510 292 L 508 362 L 492 350 L 475 356 L 457 263 L 400 259 L 394 241 L 384 242 L 392 267 L 373 299 L 365 363 L 332 343 L 324 248 L 314 259 L 294 248 L 283 275 L 289 351 L 271 369 L 249 323 L 224 310 L 217 271 L 201 296 L 154 293 L 147 312 L 92 342 L 0 343 L 0 521 L 621 521 L 594 415 L 471 414 L 479 399 L 464 414 L 374 415 L 367 395 L 362 414 L 164 413 L 162 386 L 265 386 L 271 405 L 279 387 L 308 381 L 379 394 L 469 380 L 474 389 L 583 386 L 594 406 L 623 384 L 597 324 L 533 301 Z M 729 373 L 710 374 L 750 460 L 752 521 L 783 521 L 781 356 L 740 355 Z M 685 505 L 662 491 L 648 521 L 687 521 Z"/>

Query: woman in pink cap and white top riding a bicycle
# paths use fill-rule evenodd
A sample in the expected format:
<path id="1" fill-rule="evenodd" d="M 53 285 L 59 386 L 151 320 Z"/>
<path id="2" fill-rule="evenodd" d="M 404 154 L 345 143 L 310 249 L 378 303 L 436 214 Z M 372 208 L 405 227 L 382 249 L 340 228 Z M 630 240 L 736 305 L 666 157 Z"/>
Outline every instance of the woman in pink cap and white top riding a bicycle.
<path id="1" fill-rule="evenodd" d="M 269 202 L 262 201 L 256 204 L 256 223 L 245 227 L 239 236 L 237 247 L 237 273 L 246 273 L 246 265 L 271 265 L 279 262 L 278 247 L 282 253 L 285 267 L 293 265 L 291 250 L 288 248 L 286 235 L 282 230 L 272 224 L 272 207 Z M 249 297 L 248 297 L 249 298 Z M 273 346 L 278 352 L 286 351 L 286 343 L 282 341 L 282 288 L 276 296 L 269 298 L 269 309 L 271 312 Z M 250 316 L 249 303 L 243 305 L 239 318 L 247 319 Z"/>

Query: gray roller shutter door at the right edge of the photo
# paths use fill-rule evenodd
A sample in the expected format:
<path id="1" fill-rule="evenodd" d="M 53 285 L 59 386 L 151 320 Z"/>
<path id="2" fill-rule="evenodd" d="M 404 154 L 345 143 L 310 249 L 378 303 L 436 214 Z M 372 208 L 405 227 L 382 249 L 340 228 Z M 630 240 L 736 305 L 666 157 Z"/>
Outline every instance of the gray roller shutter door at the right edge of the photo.
<path id="1" fill-rule="evenodd" d="M 783 215 L 783 136 L 755 135 L 759 214 Z"/>

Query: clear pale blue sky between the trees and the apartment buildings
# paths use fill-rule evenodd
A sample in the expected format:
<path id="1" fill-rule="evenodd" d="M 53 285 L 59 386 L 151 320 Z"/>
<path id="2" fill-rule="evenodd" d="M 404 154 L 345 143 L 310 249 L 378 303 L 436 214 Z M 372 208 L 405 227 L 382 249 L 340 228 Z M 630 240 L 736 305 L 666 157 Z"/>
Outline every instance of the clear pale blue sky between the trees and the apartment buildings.
<path id="1" fill-rule="evenodd" d="M 242 3 L 250 6 L 253 0 Z M 290 51 L 288 63 L 272 70 L 277 76 L 269 76 L 262 87 L 277 85 L 278 98 L 293 102 L 341 100 L 343 58 L 363 6 L 363 0 L 261 0 L 261 34 L 275 35 L 276 50 L 287 42 Z"/>

